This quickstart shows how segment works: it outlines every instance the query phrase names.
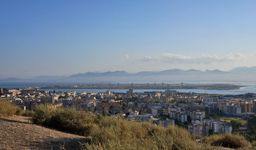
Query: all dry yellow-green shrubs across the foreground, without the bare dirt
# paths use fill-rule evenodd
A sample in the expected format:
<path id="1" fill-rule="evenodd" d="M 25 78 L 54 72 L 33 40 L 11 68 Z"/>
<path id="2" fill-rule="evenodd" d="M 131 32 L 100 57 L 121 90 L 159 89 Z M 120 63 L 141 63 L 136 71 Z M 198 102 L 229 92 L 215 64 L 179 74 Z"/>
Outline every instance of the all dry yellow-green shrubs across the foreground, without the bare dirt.
<path id="1" fill-rule="evenodd" d="M 250 144 L 239 135 L 211 135 L 197 145 L 186 128 L 162 127 L 149 122 L 132 122 L 124 118 L 103 117 L 74 109 L 54 108 L 39 105 L 34 111 L 23 112 L 18 106 L 5 100 L 0 101 L 0 115 L 32 116 L 40 125 L 59 131 L 83 135 L 87 140 L 81 149 L 218 149 L 220 146 L 241 149 L 256 149 L 256 142 Z M 253 120 L 253 118 L 252 118 Z M 254 121 L 254 120 L 253 120 Z M 249 123 L 254 127 L 252 123 Z"/>

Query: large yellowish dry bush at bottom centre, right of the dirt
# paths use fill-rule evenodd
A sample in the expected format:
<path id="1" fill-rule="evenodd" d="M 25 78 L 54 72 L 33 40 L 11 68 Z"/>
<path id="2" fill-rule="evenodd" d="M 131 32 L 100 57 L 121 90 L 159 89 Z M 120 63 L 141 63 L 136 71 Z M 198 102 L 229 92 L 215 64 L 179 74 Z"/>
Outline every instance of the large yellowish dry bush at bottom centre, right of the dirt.
<path id="1" fill-rule="evenodd" d="M 82 149 L 195 149 L 190 134 L 176 126 L 105 118 L 99 127 Z"/>

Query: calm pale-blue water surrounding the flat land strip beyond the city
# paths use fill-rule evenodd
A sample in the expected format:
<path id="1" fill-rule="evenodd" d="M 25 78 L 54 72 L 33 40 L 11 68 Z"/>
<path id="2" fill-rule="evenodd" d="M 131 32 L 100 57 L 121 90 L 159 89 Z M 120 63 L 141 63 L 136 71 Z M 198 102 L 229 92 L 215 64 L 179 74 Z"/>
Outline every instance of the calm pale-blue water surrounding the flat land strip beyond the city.
<path id="1" fill-rule="evenodd" d="M 6 89 L 14 89 L 14 88 L 20 88 L 20 87 L 44 87 L 49 85 L 72 85 L 72 84 L 78 84 L 74 82 L 70 83 L 61 83 L 61 82 L 26 82 L 26 83 L 0 83 L 0 88 L 6 88 Z M 245 85 L 246 87 L 242 87 L 238 90 L 201 90 L 201 89 L 176 89 L 178 92 L 194 92 L 194 93 L 208 93 L 208 94 L 227 94 L 227 95 L 239 95 L 239 94 L 245 94 L 245 93 L 256 93 L 256 83 L 233 83 L 233 84 L 241 84 Z M 110 89 L 46 89 L 49 91 L 61 91 L 61 92 L 71 92 L 76 91 L 78 93 L 81 92 L 106 92 Z M 128 89 L 113 89 L 110 90 L 115 93 L 126 93 Z M 158 92 L 164 92 L 165 90 L 134 90 L 134 92 L 151 92 L 151 91 L 158 91 Z"/>

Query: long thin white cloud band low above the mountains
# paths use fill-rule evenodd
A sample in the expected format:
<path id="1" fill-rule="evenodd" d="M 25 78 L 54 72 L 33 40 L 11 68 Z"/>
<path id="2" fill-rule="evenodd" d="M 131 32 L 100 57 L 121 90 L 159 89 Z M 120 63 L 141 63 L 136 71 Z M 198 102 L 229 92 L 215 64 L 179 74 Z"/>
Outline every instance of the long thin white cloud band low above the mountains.
<path id="1" fill-rule="evenodd" d="M 202 55 L 201 57 L 193 58 L 182 54 L 163 53 L 158 57 L 144 56 L 141 61 L 150 62 L 166 62 L 166 63 L 204 63 L 209 64 L 212 62 L 227 62 L 227 61 L 241 61 L 245 60 L 246 56 L 239 53 L 230 53 L 224 57 L 217 55 Z"/>

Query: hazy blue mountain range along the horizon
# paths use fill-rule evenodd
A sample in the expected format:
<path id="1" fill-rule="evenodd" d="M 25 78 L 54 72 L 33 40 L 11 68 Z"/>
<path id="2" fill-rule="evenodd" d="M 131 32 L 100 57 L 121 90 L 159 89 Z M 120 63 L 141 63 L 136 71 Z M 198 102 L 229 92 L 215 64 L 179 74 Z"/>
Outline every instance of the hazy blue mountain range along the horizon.
<path id="1" fill-rule="evenodd" d="M 87 72 L 71 76 L 38 76 L 31 79 L 7 78 L 0 82 L 172 82 L 172 81 L 217 81 L 217 82 L 246 82 L 256 81 L 255 67 L 238 67 L 230 71 L 195 69 L 170 69 L 164 71 L 143 71 L 128 73 L 114 72 Z"/>

